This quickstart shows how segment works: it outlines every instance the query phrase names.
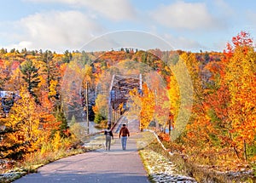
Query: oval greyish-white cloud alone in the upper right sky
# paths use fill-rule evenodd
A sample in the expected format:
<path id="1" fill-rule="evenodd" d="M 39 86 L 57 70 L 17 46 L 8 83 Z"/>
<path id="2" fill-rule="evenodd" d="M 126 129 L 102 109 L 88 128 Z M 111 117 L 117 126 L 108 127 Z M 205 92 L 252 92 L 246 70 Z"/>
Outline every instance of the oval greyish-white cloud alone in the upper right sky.
<path id="1" fill-rule="evenodd" d="M 209 14 L 205 3 L 177 2 L 160 6 L 151 14 L 163 26 L 186 30 L 209 30 L 221 24 Z"/>

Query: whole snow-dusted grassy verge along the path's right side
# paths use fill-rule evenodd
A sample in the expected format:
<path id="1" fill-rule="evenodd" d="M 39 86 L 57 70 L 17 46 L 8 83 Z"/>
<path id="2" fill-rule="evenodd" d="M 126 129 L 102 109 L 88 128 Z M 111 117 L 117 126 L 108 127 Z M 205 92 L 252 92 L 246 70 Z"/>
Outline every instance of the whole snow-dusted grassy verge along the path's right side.
<path id="1" fill-rule="evenodd" d="M 206 163 L 195 162 L 183 152 L 177 151 L 177 144 L 170 141 L 166 142 L 163 136 L 167 135 L 159 134 L 159 141 L 151 132 L 143 132 L 143 138 L 137 142 L 138 146 L 142 147 L 140 155 L 151 182 L 159 182 L 160 180 L 175 182 L 178 178 L 187 182 L 238 183 L 255 181 L 250 169 L 223 171 L 215 166 L 207 166 Z M 148 146 L 143 147 L 142 143 L 145 145 L 147 142 Z M 164 149 L 163 146 L 169 148 Z M 156 163 L 159 161 L 161 163 Z"/>

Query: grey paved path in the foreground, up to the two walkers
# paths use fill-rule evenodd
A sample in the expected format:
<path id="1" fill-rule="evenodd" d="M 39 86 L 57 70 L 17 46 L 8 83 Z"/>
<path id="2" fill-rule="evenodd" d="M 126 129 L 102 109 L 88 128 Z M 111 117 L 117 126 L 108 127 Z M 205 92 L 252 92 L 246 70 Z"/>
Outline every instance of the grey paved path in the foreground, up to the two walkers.
<path id="1" fill-rule="evenodd" d="M 139 135 L 131 134 L 125 151 L 121 150 L 118 135 L 115 134 L 115 142 L 109 152 L 100 149 L 66 157 L 38 169 L 37 174 L 28 174 L 15 182 L 149 182 L 137 152 L 136 139 Z"/>

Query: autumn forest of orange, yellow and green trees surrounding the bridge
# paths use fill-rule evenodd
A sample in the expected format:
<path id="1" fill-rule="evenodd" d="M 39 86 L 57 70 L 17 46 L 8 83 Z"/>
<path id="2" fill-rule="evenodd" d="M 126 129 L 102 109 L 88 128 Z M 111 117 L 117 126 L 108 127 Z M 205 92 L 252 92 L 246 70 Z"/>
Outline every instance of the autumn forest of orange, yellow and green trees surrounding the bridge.
<path id="1" fill-rule="evenodd" d="M 189 121 L 177 138 L 172 130 L 171 136 L 160 134 L 170 151 L 217 170 L 255 171 L 255 61 L 253 41 L 244 31 L 223 53 L 1 49 L 0 157 L 22 162 L 79 144 L 73 123 L 84 117 L 84 89 L 90 93 L 90 120 L 106 122 L 112 75 L 141 73 L 143 94 L 131 92 L 131 111 L 139 106 L 142 130 L 152 121 L 162 129 L 177 129 L 180 108 L 189 109 Z M 191 108 L 182 102 L 183 83 L 177 77 L 186 77 L 181 62 L 193 88 Z"/>

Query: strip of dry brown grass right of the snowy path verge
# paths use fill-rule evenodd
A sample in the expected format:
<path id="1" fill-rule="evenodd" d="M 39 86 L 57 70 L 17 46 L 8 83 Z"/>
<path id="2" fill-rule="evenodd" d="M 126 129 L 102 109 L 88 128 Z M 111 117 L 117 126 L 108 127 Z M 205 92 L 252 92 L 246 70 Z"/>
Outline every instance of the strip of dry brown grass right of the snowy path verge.
<path id="1" fill-rule="evenodd" d="M 212 169 L 207 169 L 205 166 L 199 166 L 198 164 L 195 164 L 194 162 L 189 161 L 189 158 L 177 151 L 178 146 L 173 144 L 173 146 L 170 146 L 170 143 L 168 146 L 164 143 L 164 146 L 168 147 L 167 151 L 165 151 L 162 146 L 160 146 L 160 143 L 157 140 L 154 139 L 154 134 L 145 132 L 142 133 L 143 137 L 141 140 L 148 140 L 148 146 L 145 146 L 141 151 L 140 155 L 143 159 L 143 164 L 145 165 L 147 171 L 148 171 L 148 157 L 146 156 L 147 153 L 145 151 L 152 151 L 152 152 L 157 152 L 164 157 L 168 158 L 172 163 L 176 165 L 177 168 L 177 174 L 185 174 L 189 175 L 191 177 L 194 177 L 195 180 L 198 182 L 220 182 L 220 183 L 226 183 L 226 182 L 253 182 L 254 180 L 251 177 L 241 177 L 237 176 L 234 177 L 232 174 L 226 174 L 226 173 L 221 173 L 217 171 L 213 171 Z M 138 141 L 138 143 L 141 143 L 141 140 Z M 170 155 L 170 152 L 172 155 Z M 149 174 L 150 171 L 148 171 Z M 149 180 L 150 180 L 150 174 L 149 174 Z M 151 181 L 151 180 L 150 180 Z M 151 181 L 154 182 L 154 181 Z"/>

